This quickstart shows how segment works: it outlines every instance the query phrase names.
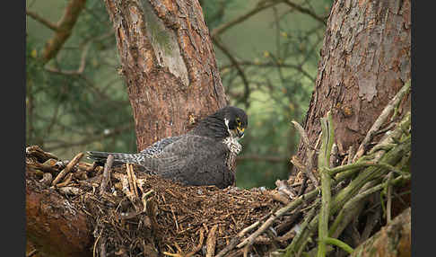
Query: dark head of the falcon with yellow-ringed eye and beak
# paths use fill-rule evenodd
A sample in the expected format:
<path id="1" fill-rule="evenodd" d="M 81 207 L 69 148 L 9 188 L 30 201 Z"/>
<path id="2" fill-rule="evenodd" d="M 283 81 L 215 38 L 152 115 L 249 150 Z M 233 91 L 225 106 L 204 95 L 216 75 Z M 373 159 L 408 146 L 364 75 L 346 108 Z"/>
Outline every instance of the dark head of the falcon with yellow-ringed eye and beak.
<path id="1" fill-rule="evenodd" d="M 249 125 L 249 119 L 245 111 L 233 106 L 224 107 L 222 111 L 223 120 L 230 136 L 237 139 L 244 137 L 245 128 Z"/>

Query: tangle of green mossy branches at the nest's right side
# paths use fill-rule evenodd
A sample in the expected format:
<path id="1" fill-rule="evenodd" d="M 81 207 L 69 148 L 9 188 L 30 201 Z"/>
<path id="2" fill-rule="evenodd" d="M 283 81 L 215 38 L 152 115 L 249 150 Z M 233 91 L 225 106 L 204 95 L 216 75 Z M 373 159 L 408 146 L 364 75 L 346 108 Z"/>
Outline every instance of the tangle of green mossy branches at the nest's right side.
<path id="1" fill-rule="evenodd" d="M 379 147 L 377 152 L 372 151 L 370 152 L 370 155 L 362 155 L 356 163 L 326 169 L 327 173 L 324 174 L 327 175 L 327 178 L 330 178 L 330 180 L 330 175 L 336 174 L 336 179 L 331 181 L 331 188 L 335 187 L 337 183 L 355 176 L 357 172 L 359 173 L 357 173 L 355 178 L 353 178 L 353 181 L 351 181 L 344 189 L 337 191 L 330 199 L 330 208 L 327 215 L 330 217 L 336 216 L 335 221 L 330 226 L 327 236 L 322 237 L 321 235 L 318 235 L 318 246 L 322 245 L 321 240 L 324 240 L 325 248 L 321 250 L 312 249 L 310 253 L 319 253 L 319 251 L 321 251 L 321 253 L 327 253 L 329 250 L 327 244 L 339 243 L 335 240 L 332 242 L 329 238 L 335 238 L 339 233 L 338 227 L 344 227 L 351 221 L 353 216 L 348 217 L 345 214 L 349 212 L 356 203 L 361 202 L 362 200 L 367 200 L 371 193 L 383 190 L 388 184 L 397 185 L 401 182 L 410 181 L 411 174 L 402 171 L 402 168 L 406 165 L 405 162 L 402 161 L 403 157 L 409 155 L 411 152 L 411 135 L 408 132 L 410 125 L 410 112 L 407 112 L 403 117 L 403 120 L 400 120 L 397 123 L 396 128 L 393 128 L 393 130 L 388 133 L 387 137 L 382 139 L 377 145 L 382 146 L 389 144 L 387 149 Z M 396 139 L 393 139 L 394 137 Z M 324 153 L 329 152 L 321 148 L 319 155 Z M 368 160 L 371 160 L 371 162 Z M 321 175 L 323 175 L 322 169 L 319 170 L 321 171 Z M 385 178 L 388 173 L 394 174 L 397 177 L 390 181 L 386 180 Z M 323 178 L 321 178 L 321 183 L 324 183 Z M 322 188 L 322 190 L 324 194 L 324 188 Z M 319 206 L 320 202 L 318 201 L 318 203 L 314 203 L 311 208 L 318 209 Z M 305 245 L 310 242 L 310 236 L 316 233 L 317 227 L 318 233 L 321 232 L 322 234 L 325 232 L 324 230 L 320 230 L 320 226 L 318 226 L 318 222 L 322 220 L 322 208 L 323 207 L 321 206 L 321 211 L 319 211 L 318 214 L 317 211 L 312 213 L 312 209 L 310 210 L 310 217 L 306 217 L 303 222 L 305 226 L 301 226 L 301 232 L 297 234 L 292 240 L 292 243 L 286 247 L 286 253 L 283 256 L 298 255 Z M 344 247 L 346 248 L 346 246 Z M 348 248 L 347 250 L 351 249 Z"/>

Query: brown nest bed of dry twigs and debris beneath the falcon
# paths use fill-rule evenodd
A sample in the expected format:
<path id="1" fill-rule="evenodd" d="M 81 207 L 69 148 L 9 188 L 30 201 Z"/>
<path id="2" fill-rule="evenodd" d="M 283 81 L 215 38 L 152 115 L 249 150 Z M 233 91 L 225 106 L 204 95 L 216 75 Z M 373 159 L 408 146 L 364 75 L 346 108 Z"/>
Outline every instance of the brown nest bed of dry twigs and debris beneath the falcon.
<path id="1" fill-rule="evenodd" d="M 91 217 L 95 237 L 92 251 L 94 254 L 105 252 L 107 256 L 219 253 L 241 230 L 265 220 L 289 203 L 290 195 L 283 192 L 294 195 L 301 186 L 307 187 L 302 185 L 301 175 L 290 179 L 293 187 L 287 181 L 278 181 L 282 191 L 182 186 L 146 174 L 135 165 L 131 166 L 133 173 L 129 173 L 128 166 L 123 164 L 111 168 L 108 185 L 101 191 L 105 176 L 102 166 L 80 162 L 82 153 L 72 161 L 60 161 L 44 153 L 39 146 L 27 147 L 28 173 L 40 184 L 65 194 Z M 67 166 L 69 173 L 59 178 Z M 292 239 L 289 234 L 292 222 L 289 221 L 296 221 L 301 214 L 291 212 L 276 219 L 274 236 L 288 233 L 278 247 L 289 244 Z M 263 255 L 271 251 L 270 244 L 273 244 L 271 238 L 259 236 L 253 247 Z"/>

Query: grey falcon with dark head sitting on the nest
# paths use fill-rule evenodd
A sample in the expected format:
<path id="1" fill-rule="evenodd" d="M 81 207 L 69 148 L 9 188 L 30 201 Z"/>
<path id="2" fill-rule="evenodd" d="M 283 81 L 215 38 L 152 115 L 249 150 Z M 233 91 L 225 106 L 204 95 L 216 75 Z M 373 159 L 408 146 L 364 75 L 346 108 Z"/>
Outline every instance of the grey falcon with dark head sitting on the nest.
<path id="1" fill-rule="evenodd" d="M 166 137 L 137 154 L 87 152 L 100 163 L 108 155 L 114 164 L 139 164 L 147 173 L 184 185 L 215 185 L 223 189 L 235 182 L 235 158 L 242 150 L 238 140 L 248 126 L 245 111 L 226 106 L 198 121 L 187 134 Z"/>

